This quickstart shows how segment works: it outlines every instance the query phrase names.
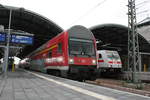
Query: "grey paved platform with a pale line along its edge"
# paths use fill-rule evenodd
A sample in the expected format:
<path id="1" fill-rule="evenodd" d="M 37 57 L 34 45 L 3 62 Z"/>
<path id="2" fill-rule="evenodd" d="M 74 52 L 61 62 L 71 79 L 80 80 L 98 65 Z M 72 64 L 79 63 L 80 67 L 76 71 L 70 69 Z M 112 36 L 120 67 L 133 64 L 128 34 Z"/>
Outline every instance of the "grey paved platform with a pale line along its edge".
<path id="1" fill-rule="evenodd" d="M 0 76 L 0 100 L 150 100 L 123 92 L 39 72 L 17 69 Z"/>

